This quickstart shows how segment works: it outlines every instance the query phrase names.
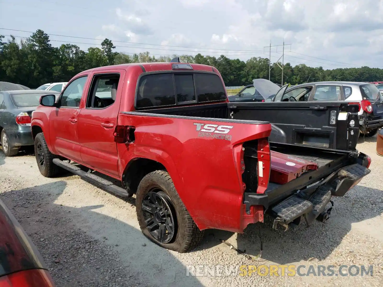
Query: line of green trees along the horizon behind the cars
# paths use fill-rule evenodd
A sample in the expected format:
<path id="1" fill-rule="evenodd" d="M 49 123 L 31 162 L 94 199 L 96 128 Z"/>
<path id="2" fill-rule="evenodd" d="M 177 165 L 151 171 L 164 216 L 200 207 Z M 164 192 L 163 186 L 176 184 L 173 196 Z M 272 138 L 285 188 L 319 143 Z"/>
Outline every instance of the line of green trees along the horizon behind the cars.
<path id="1" fill-rule="evenodd" d="M 0 35 L 0 81 L 37 88 L 44 83 L 67 82 L 77 73 L 94 67 L 137 62 L 169 62 L 172 59 L 167 56 L 154 57 L 149 52 L 127 55 L 114 50 L 115 46 L 109 39 L 101 43 L 101 49 L 90 47 L 87 51 L 82 51 L 79 46 L 73 44 L 53 47 L 49 36 L 42 30 L 37 30 L 20 42 L 13 36 L 6 41 L 5 36 Z M 221 72 L 226 86 L 248 85 L 255 78 L 268 78 L 270 62 L 262 57 L 252 57 L 246 62 L 229 59 L 225 55 L 213 57 L 197 54 L 179 57 L 182 62 L 216 67 Z M 283 76 L 284 82 L 292 85 L 316 81 L 373 82 L 383 79 L 383 69 L 360 67 L 324 70 L 322 67 L 309 67 L 305 64 L 293 67 L 286 63 Z M 273 68 L 270 77 L 272 82 L 280 83 L 281 78 L 282 70 Z"/>

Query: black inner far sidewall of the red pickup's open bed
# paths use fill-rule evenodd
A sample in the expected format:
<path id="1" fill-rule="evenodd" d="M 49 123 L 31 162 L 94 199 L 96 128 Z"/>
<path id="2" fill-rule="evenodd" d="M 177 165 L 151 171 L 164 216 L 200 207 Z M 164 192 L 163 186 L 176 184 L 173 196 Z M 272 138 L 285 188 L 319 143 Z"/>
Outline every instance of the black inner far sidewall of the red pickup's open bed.
<path id="1" fill-rule="evenodd" d="M 273 130 L 270 142 L 355 150 L 358 108 L 338 101 L 229 103 L 228 117 L 270 122 L 278 129 Z"/>

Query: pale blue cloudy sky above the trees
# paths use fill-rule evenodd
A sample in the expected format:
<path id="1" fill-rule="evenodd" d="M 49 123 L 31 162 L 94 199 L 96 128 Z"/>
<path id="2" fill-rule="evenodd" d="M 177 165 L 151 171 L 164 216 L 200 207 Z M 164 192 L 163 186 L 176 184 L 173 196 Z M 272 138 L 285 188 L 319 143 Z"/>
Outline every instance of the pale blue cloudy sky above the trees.
<path id="1" fill-rule="evenodd" d="M 86 50 L 108 38 L 128 54 L 244 61 L 285 42 L 284 62 L 293 66 L 383 68 L 383 0 L 0 0 L 0 28 L 90 38 L 50 36 L 53 46 Z M 271 50 L 275 62 L 282 46 Z"/>

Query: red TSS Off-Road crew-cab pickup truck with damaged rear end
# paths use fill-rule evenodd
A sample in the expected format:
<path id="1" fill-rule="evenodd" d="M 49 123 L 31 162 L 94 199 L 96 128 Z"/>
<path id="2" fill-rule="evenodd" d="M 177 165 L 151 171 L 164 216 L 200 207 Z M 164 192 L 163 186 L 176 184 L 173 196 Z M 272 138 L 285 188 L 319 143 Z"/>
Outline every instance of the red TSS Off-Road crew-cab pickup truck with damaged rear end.
<path id="1" fill-rule="evenodd" d="M 274 228 L 325 222 L 331 196 L 343 196 L 370 172 L 363 153 L 305 138 L 301 145 L 272 142 L 278 128 L 233 119 L 231 109 L 211 66 L 175 61 L 87 70 L 58 98 L 40 98 L 31 120 L 38 168 L 47 177 L 69 170 L 121 197 L 136 194 L 144 235 L 178 252 L 196 246 L 207 228 L 242 233 L 265 213 Z M 342 129 L 349 131 L 355 109 L 342 107 Z M 286 166 L 310 161 L 316 168 L 269 182 L 270 151 L 283 153 Z"/>

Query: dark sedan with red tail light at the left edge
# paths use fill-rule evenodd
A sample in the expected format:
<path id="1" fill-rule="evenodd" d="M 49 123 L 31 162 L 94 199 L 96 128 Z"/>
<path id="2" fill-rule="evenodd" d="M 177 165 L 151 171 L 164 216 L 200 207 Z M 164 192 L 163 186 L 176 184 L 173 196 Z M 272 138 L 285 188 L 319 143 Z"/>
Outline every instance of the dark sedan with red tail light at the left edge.
<path id="1" fill-rule="evenodd" d="M 0 139 L 7 157 L 16 155 L 20 147 L 33 145 L 31 133 L 32 112 L 39 105 L 39 99 L 54 91 L 15 90 L 0 91 Z"/>

